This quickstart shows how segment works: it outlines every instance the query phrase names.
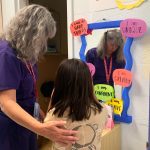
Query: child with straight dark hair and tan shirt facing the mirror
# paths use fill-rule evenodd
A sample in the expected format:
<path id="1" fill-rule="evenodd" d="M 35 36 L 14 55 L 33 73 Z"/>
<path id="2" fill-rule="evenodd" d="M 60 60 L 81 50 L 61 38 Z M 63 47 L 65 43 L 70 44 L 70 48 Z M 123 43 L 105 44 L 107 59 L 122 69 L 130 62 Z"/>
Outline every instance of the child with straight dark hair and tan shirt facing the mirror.
<path id="1" fill-rule="evenodd" d="M 53 143 L 51 150 L 100 150 L 107 110 L 95 98 L 88 66 L 79 59 L 64 60 L 56 74 L 50 109 L 45 122 L 65 120 L 66 128 L 77 130 L 73 145 Z"/>

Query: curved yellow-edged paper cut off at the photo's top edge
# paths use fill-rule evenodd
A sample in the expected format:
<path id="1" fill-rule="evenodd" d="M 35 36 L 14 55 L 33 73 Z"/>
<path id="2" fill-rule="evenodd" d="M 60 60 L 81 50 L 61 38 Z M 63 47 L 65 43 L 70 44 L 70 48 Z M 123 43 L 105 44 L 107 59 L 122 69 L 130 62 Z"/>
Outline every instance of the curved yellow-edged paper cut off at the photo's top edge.
<path id="1" fill-rule="evenodd" d="M 119 9 L 132 9 L 140 6 L 145 0 L 116 0 Z"/>

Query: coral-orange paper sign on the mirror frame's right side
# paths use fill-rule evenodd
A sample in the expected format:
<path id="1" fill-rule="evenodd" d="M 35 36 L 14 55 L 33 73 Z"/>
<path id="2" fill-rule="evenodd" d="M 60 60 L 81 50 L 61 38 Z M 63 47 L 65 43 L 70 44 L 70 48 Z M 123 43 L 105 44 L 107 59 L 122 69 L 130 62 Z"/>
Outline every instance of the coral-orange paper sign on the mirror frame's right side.
<path id="1" fill-rule="evenodd" d="M 116 69 L 113 72 L 113 81 L 116 85 L 128 87 L 132 82 L 132 73 L 126 69 Z"/>

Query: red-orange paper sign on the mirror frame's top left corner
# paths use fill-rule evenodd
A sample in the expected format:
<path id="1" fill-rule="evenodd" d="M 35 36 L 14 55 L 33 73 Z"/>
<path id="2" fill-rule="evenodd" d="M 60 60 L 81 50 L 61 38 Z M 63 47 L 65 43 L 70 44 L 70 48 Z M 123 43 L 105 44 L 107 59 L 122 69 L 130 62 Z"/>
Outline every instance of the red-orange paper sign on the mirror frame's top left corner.
<path id="1" fill-rule="evenodd" d="M 79 19 L 71 23 L 70 30 L 73 36 L 81 36 L 87 34 L 87 21 L 85 19 Z"/>

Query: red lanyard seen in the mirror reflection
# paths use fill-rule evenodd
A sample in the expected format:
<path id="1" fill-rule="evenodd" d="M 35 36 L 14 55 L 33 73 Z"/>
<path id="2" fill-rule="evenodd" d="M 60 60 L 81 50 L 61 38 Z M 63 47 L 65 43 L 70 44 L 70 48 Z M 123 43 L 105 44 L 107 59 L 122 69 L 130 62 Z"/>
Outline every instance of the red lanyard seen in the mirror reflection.
<path id="1" fill-rule="evenodd" d="M 106 58 L 104 57 L 104 67 L 105 67 L 106 81 L 107 81 L 107 84 L 109 84 L 110 75 L 112 71 L 112 57 L 110 58 L 109 68 L 107 68 Z"/>

